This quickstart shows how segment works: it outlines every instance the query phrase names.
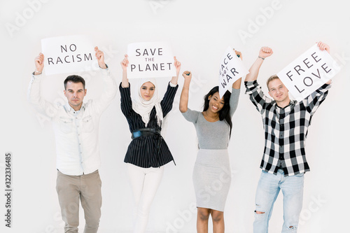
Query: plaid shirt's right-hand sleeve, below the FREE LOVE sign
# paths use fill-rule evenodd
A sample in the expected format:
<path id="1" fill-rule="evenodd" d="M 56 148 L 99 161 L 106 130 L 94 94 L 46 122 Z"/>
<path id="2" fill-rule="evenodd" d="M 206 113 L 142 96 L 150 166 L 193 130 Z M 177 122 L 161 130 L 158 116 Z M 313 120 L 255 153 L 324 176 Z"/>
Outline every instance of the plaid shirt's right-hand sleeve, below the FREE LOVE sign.
<path id="1" fill-rule="evenodd" d="M 322 104 L 322 102 L 325 100 L 330 87 L 331 85 L 323 84 L 316 91 L 312 92 L 308 97 L 302 100 L 302 103 L 311 115 L 314 115 L 318 106 L 320 106 L 320 104 Z"/>

